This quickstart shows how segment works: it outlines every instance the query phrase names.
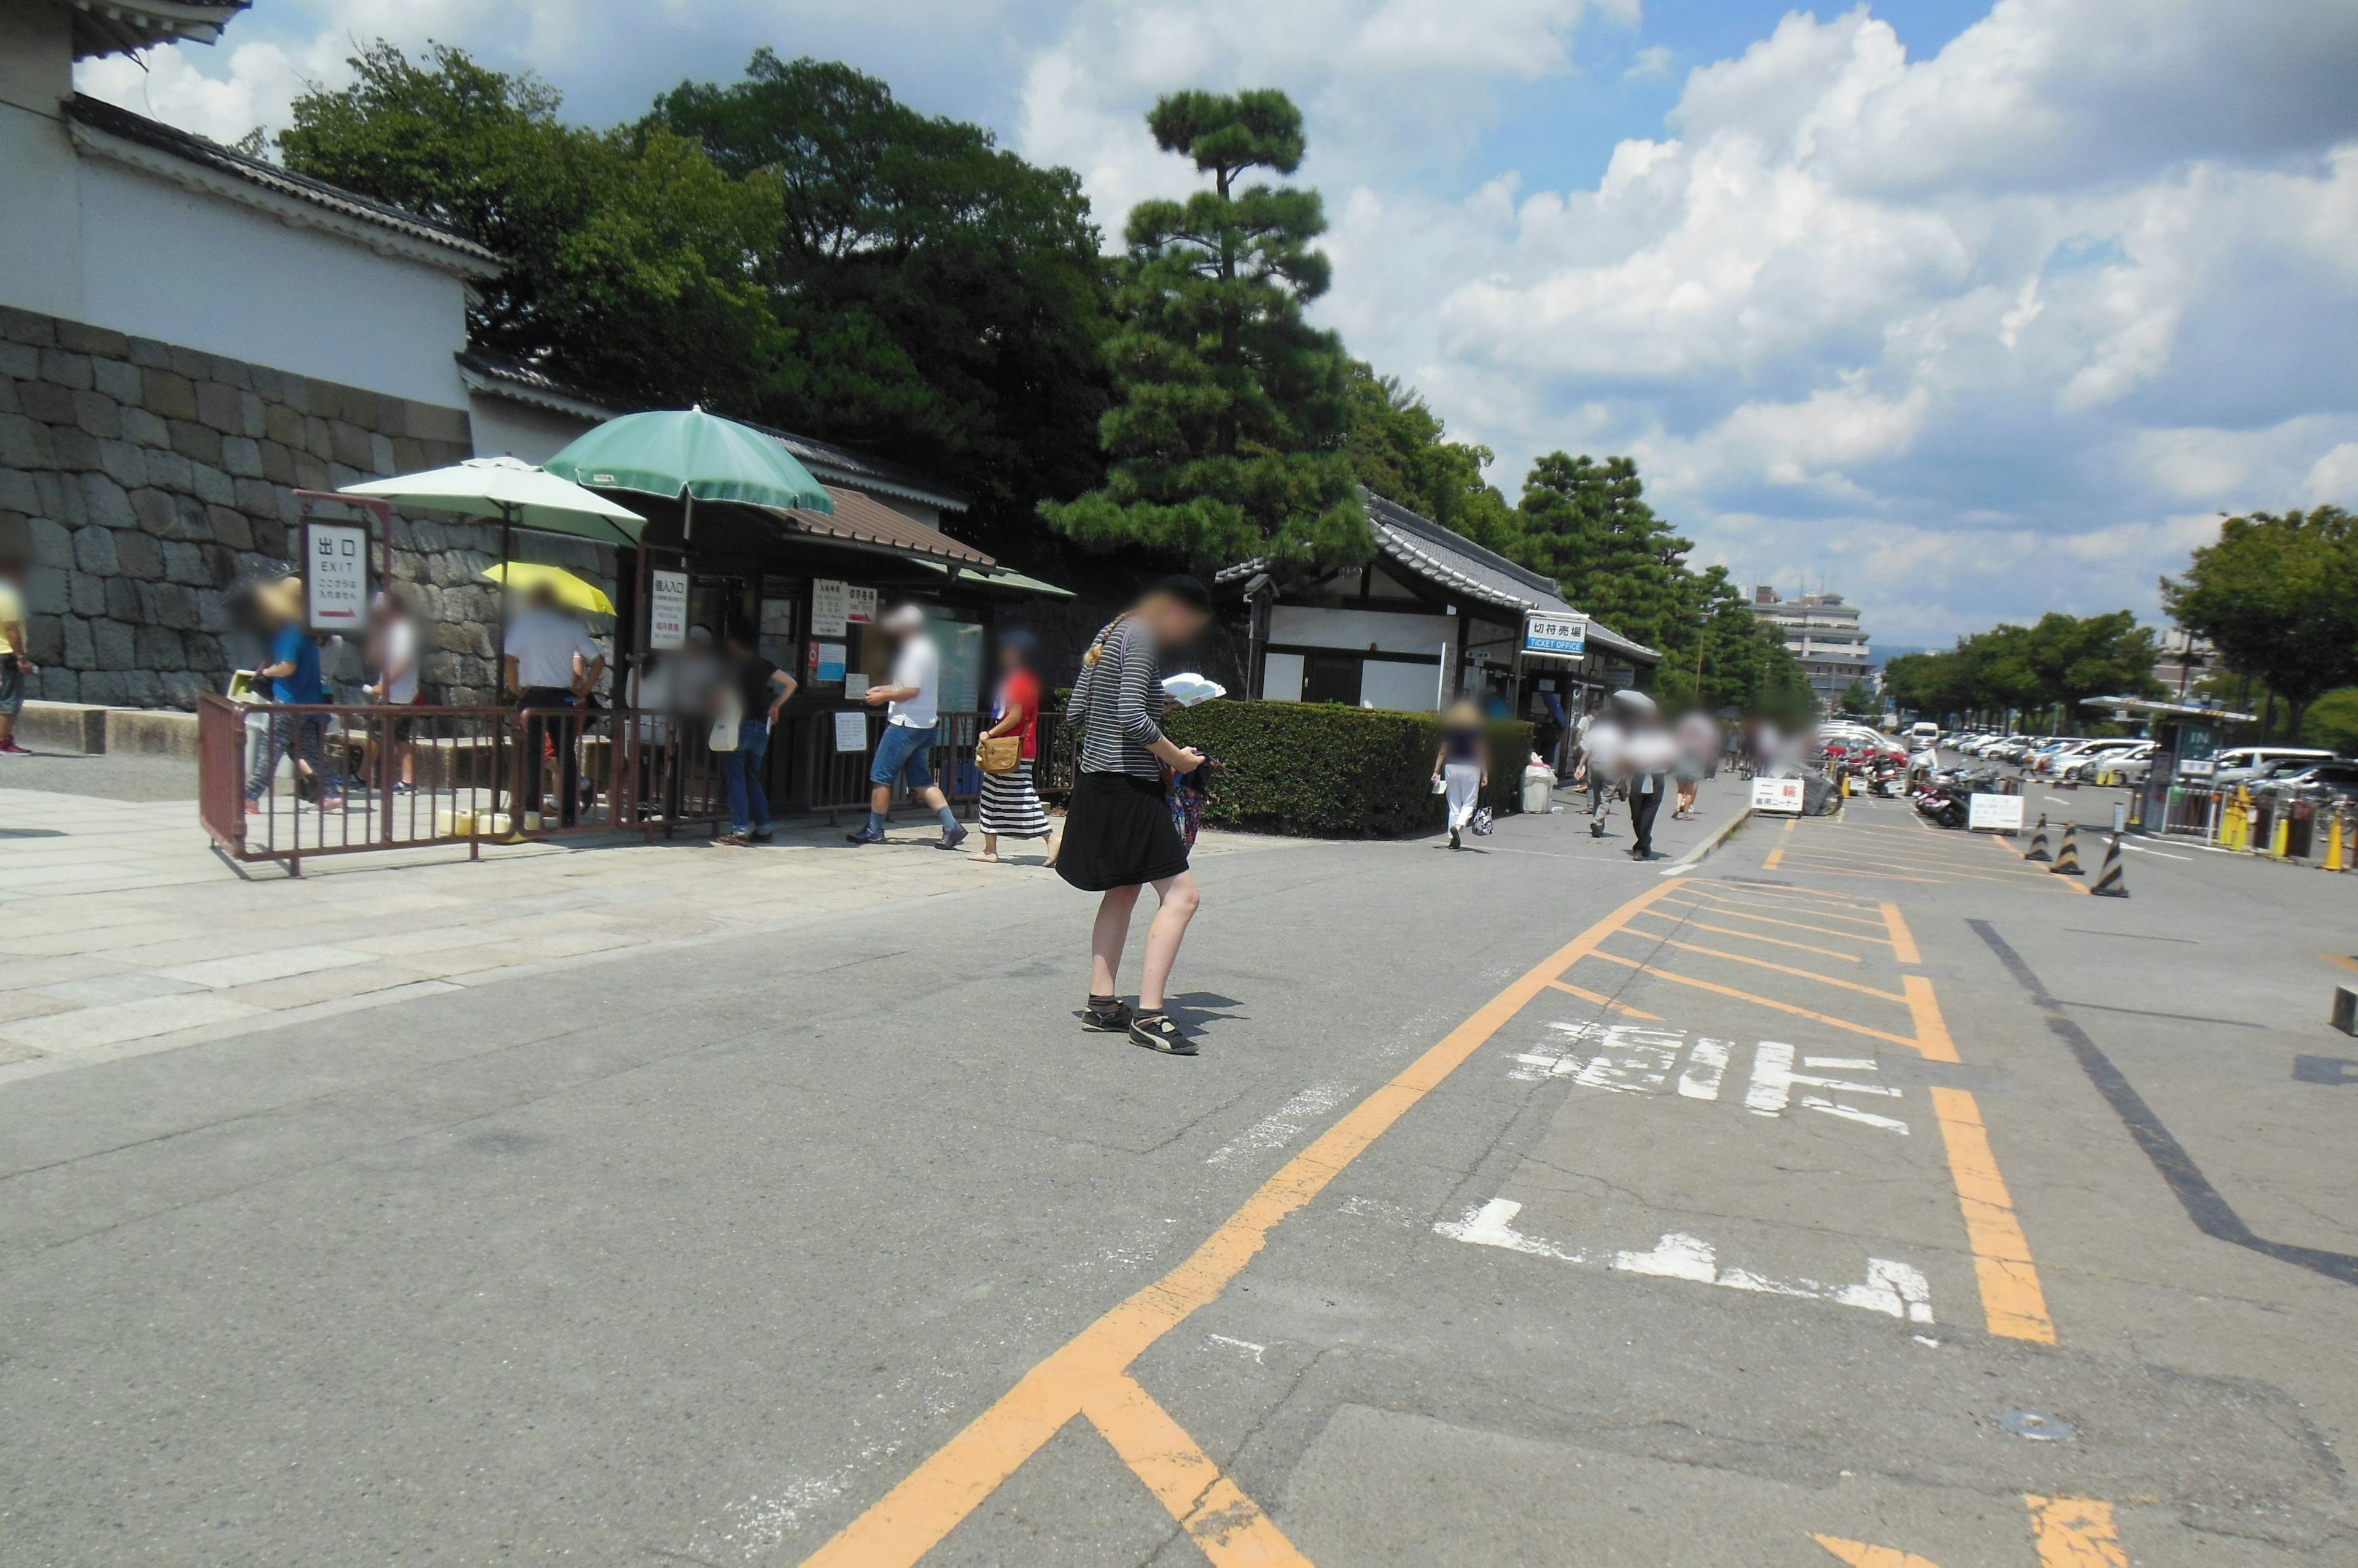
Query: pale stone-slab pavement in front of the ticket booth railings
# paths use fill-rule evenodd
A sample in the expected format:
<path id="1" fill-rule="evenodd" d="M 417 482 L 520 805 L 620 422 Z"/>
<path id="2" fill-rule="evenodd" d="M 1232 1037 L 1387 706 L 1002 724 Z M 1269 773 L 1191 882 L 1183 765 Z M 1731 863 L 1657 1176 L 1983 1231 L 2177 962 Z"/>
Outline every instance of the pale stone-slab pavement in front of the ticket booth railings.
<path id="1" fill-rule="evenodd" d="M 969 849 L 981 835 L 967 839 Z M 1292 839 L 1207 832 L 1198 854 Z M 318 856 L 302 877 L 215 856 L 196 802 L 0 790 L 0 1085 L 462 986 L 1054 877 L 1038 842 L 981 865 L 931 832 L 851 849 L 637 837 Z"/>

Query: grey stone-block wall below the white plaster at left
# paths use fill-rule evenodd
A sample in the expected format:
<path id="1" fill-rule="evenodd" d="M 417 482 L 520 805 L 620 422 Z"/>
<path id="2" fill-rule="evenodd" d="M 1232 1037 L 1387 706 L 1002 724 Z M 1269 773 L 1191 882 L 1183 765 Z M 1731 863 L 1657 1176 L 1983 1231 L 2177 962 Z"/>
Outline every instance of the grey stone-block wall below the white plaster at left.
<path id="1" fill-rule="evenodd" d="M 295 554 L 297 488 L 469 455 L 462 408 L 0 309 L 0 547 L 28 566 L 28 696 L 196 707 L 259 663 L 224 589 Z M 498 549 L 495 526 L 394 523 L 429 700 L 493 700 L 500 594 L 476 573 Z M 533 540 L 531 556 L 611 582 L 611 552 L 590 545 Z"/>

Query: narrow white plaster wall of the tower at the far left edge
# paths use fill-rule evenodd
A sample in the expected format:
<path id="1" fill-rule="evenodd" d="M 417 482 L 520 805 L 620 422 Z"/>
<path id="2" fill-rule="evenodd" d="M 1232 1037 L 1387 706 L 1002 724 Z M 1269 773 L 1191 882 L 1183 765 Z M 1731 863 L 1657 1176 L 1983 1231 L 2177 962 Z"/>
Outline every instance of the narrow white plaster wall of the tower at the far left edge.
<path id="1" fill-rule="evenodd" d="M 0 0 L 0 304 L 83 316 L 73 141 L 73 21 L 50 0 Z"/>

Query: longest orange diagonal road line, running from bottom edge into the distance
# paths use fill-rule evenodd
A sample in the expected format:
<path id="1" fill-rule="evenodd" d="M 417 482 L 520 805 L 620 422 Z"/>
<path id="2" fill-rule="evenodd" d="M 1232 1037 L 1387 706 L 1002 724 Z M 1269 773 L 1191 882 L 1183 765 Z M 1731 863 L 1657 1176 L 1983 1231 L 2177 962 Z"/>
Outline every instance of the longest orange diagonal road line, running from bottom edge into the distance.
<path id="1" fill-rule="evenodd" d="M 1162 1335 L 1219 1299 L 1269 1243 L 1278 1224 L 1323 1193 L 1375 1139 L 1523 1012 L 1547 983 L 1596 950 L 1625 920 L 1681 887 L 1672 877 L 1620 905 L 1530 974 L 1490 997 L 1438 1045 L 1408 1063 L 1262 1184 L 1196 1252 L 1085 1327 L 1016 1386 L 943 1443 L 865 1514 L 804 1559 L 806 1568 L 913 1568 L 1007 1476 L 1056 1436 L 1089 1401 L 1127 1375 Z M 1094 1419 L 1094 1417 L 1092 1417 Z"/>

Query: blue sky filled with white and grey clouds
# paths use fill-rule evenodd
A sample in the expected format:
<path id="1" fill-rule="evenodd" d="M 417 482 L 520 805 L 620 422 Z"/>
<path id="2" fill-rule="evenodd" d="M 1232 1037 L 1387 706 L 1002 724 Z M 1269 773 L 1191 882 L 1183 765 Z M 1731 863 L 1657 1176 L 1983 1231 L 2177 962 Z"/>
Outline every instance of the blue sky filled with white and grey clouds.
<path id="1" fill-rule="evenodd" d="M 2158 615 L 2221 512 L 2358 507 L 2351 0 L 257 0 L 85 92 L 236 139 L 356 42 L 531 68 L 585 123 L 757 45 L 1082 174 L 1283 87 L 1318 318 L 1497 453 L 1627 453 L 1695 559 L 1879 644 Z"/>

